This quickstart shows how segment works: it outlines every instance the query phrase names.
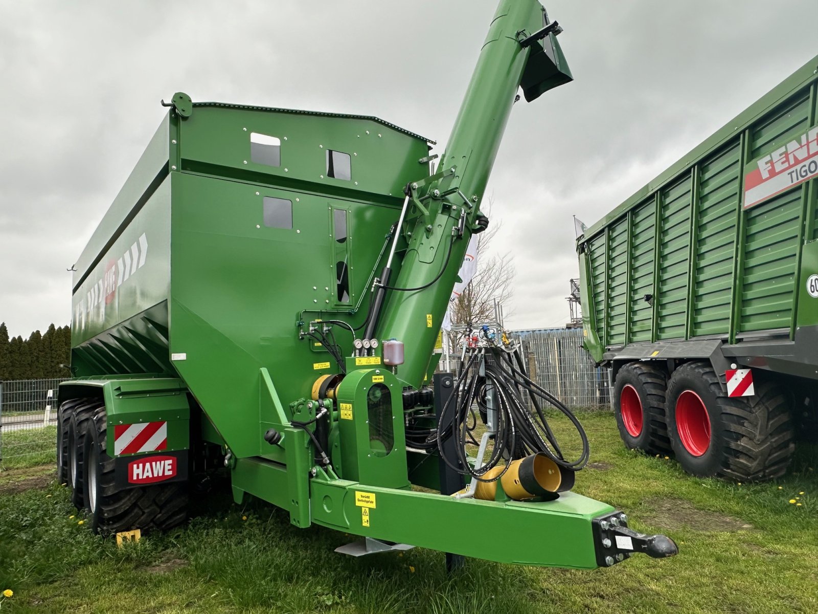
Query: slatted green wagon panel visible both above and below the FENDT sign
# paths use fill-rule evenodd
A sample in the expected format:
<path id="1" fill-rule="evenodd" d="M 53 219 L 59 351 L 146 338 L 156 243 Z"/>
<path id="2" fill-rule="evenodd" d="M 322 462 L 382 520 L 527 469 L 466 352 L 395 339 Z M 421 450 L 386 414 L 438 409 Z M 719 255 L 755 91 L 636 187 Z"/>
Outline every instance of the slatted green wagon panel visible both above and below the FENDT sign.
<path id="1" fill-rule="evenodd" d="M 805 90 L 754 127 L 750 156 L 784 145 L 809 127 L 809 95 Z M 744 276 L 739 331 L 789 328 L 798 253 L 798 225 L 806 184 L 746 210 Z"/>

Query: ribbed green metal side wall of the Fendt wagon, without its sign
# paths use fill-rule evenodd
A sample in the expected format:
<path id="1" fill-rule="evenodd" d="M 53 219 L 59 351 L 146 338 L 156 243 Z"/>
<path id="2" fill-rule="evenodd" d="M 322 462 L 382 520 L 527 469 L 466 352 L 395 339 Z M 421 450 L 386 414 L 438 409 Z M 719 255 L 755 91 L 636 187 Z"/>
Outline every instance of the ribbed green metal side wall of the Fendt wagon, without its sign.
<path id="1" fill-rule="evenodd" d="M 735 342 L 747 332 L 794 334 L 802 246 L 818 237 L 816 179 L 782 188 L 745 209 L 744 177 L 760 167 L 760 160 L 770 165 L 768 156 L 781 147 L 807 142 L 805 134 L 818 118 L 816 68 L 818 57 L 579 239 L 578 249 L 591 260 L 591 283 L 586 287 L 583 280 L 595 308 L 590 332 L 598 333 L 605 347 L 622 345 L 623 329 L 627 343 L 699 336 Z M 626 214 L 628 302 L 622 305 L 617 276 Z M 594 277 L 600 272 L 606 275 L 601 290 Z M 654 295 L 652 313 L 644 302 L 647 294 Z"/>

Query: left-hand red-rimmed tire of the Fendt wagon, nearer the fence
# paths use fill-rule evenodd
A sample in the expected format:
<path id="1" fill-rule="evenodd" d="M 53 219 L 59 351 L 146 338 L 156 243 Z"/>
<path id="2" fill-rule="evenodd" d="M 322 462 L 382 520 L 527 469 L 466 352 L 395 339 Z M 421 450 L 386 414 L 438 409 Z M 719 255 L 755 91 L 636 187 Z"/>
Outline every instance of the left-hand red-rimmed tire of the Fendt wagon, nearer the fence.
<path id="1" fill-rule="evenodd" d="M 627 363 L 613 385 L 613 413 L 629 449 L 670 454 L 665 422 L 667 373 L 649 363 Z"/>

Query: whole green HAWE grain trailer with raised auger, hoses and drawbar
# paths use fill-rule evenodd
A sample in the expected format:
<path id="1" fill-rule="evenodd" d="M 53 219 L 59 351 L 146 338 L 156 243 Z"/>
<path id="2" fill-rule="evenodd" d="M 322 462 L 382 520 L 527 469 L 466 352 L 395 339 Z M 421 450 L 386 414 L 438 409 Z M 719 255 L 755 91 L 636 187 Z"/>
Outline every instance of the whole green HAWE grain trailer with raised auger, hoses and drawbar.
<path id="1" fill-rule="evenodd" d="M 572 79 L 560 31 L 536 0 L 500 2 L 434 169 L 428 139 L 375 117 L 173 96 L 75 267 L 58 462 L 93 529 L 177 525 L 226 467 L 237 503 L 363 538 L 344 553 L 586 569 L 676 553 L 571 492 L 587 438 L 501 329 L 435 373 L 516 93 Z M 546 406 L 578 428 L 576 458 Z"/>

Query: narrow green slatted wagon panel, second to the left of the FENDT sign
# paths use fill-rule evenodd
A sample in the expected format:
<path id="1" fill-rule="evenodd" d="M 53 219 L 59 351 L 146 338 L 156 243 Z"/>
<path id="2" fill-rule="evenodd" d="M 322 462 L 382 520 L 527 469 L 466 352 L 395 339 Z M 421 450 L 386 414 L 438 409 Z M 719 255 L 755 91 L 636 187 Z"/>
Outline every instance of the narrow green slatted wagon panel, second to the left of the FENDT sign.
<path id="1" fill-rule="evenodd" d="M 661 192 L 659 221 L 658 339 L 685 336 L 688 250 L 690 249 L 690 176 Z"/>

